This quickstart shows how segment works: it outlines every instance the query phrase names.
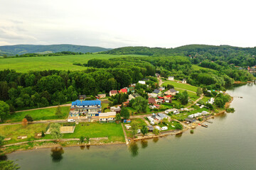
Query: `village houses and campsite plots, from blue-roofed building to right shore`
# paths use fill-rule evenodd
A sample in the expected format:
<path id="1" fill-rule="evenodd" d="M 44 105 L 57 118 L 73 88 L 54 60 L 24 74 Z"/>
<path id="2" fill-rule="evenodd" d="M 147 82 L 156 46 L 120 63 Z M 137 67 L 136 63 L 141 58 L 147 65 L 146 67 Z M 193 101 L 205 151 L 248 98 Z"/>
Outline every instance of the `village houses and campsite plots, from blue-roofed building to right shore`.
<path id="1" fill-rule="evenodd" d="M 156 77 L 161 79 L 159 74 L 156 74 Z M 137 84 L 148 86 L 146 81 L 149 81 L 149 79 L 143 79 Z M 176 81 L 174 77 L 166 79 L 167 84 L 172 81 L 175 84 L 191 86 L 186 84 L 186 79 L 182 81 Z M 213 105 L 213 97 L 203 97 L 203 94 L 195 97 L 196 92 L 194 91 L 196 89 L 194 88 L 194 91 L 191 92 L 191 94 L 193 93 L 192 99 L 188 99 L 189 103 L 186 106 L 178 105 L 178 108 L 174 108 L 175 105 L 172 104 L 172 101 L 178 102 L 175 96 L 180 91 L 176 88 L 167 89 L 167 86 L 159 86 L 154 91 L 147 93 L 146 113 L 131 112 L 134 110 L 129 106 L 130 101 L 141 97 L 135 89 L 137 84 L 131 84 L 129 87 L 119 90 L 112 90 L 109 94 L 97 94 L 94 101 L 87 101 L 85 95 L 80 95 L 77 101 L 72 102 L 68 122 L 76 122 L 77 124 L 84 121 L 122 123 L 126 142 L 128 143 L 130 140 L 155 137 L 161 134 L 176 134 L 184 129 L 196 128 L 197 125 L 201 125 L 203 120 L 213 116 L 213 114 L 210 114 L 211 111 L 208 107 L 198 103 L 198 101 L 204 99 L 206 101 L 205 104 L 210 103 Z M 186 89 L 181 89 L 181 91 L 186 91 Z M 220 92 L 223 93 L 222 91 Z M 109 98 L 118 94 L 127 94 L 127 101 L 102 109 L 102 104 L 106 104 L 106 101 L 109 102 Z M 128 116 L 122 115 L 124 108 L 129 108 Z M 133 125 L 133 122 L 136 124 Z M 203 125 L 203 127 L 207 126 L 207 124 Z M 142 129 L 145 129 L 144 132 L 142 132 Z"/>

